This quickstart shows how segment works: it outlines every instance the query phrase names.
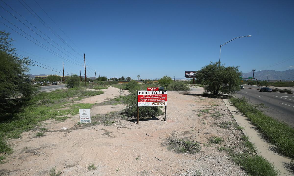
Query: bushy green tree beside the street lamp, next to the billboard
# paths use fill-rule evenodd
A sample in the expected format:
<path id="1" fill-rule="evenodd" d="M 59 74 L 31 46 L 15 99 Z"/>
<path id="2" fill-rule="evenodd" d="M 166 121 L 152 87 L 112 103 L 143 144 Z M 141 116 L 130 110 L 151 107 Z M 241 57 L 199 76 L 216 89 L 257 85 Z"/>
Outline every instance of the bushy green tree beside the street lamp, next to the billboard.
<path id="1" fill-rule="evenodd" d="M 240 89 L 241 72 L 239 66 L 218 66 L 218 62 L 210 63 L 201 68 L 197 80 L 202 80 L 204 91 L 218 95 L 218 93 L 233 94 Z"/>

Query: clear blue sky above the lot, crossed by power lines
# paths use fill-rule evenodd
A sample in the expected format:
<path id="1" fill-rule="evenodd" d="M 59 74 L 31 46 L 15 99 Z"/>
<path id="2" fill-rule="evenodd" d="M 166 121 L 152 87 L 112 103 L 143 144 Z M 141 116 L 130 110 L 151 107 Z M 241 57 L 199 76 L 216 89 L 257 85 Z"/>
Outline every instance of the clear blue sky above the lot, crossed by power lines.
<path id="1" fill-rule="evenodd" d="M 83 74 L 86 53 L 87 77 L 94 76 L 96 70 L 97 75 L 108 78 L 183 78 L 185 71 L 197 71 L 210 61 L 218 61 L 220 44 L 247 35 L 252 37 L 238 38 L 222 46 L 222 63 L 240 66 L 243 73 L 253 68 L 294 69 L 294 1 L 37 1 L 75 46 L 34 0 L 24 0 L 78 54 L 30 14 L 19 3 L 22 0 L 3 1 L 66 51 L 2 1 L 1 6 L 68 56 L 0 7 L 1 16 L 77 65 L 0 23 L 0 30 L 10 32 L 16 40 L 17 53 L 58 70 L 62 70 L 64 61 L 68 74 L 79 74 L 80 68 Z M 1 17 L 0 21 L 30 38 Z M 38 66 L 30 68 L 31 74 L 54 74 Z"/>

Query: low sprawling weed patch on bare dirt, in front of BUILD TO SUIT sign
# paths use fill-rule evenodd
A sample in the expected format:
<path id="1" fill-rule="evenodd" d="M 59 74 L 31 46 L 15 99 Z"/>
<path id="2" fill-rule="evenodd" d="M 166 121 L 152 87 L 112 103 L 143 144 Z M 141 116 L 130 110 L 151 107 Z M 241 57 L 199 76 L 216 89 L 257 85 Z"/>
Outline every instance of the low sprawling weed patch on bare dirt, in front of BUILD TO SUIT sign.
<path id="1" fill-rule="evenodd" d="M 166 139 L 168 149 L 174 150 L 178 153 L 190 153 L 194 154 L 196 152 L 199 152 L 201 147 L 197 142 L 189 141 L 189 140 L 183 140 L 178 138 L 167 138 Z"/>

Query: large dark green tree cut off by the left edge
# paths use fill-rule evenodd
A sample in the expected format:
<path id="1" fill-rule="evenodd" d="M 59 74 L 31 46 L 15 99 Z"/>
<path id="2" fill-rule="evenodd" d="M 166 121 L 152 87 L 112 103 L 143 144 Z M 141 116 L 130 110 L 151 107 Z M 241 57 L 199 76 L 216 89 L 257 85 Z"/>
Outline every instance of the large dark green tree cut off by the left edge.
<path id="1" fill-rule="evenodd" d="M 34 93 L 25 74 L 29 71 L 29 59 L 14 56 L 11 41 L 9 33 L 0 31 L 0 115 L 15 110 Z"/>

